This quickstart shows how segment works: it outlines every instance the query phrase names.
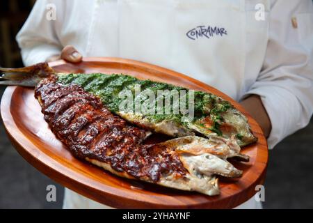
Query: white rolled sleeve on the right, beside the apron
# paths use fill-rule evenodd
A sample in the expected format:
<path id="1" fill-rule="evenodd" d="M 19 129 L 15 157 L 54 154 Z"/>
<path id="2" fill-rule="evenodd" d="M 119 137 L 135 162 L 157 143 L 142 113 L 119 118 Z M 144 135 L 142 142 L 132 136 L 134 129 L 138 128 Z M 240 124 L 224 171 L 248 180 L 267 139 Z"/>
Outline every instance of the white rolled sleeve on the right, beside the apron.
<path id="1" fill-rule="evenodd" d="M 304 128 L 312 116 L 312 1 L 274 1 L 269 27 L 262 71 L 244 97 L 261 96 L 272 124 L 268 147 L 273 148 L 287 135 Z"/>

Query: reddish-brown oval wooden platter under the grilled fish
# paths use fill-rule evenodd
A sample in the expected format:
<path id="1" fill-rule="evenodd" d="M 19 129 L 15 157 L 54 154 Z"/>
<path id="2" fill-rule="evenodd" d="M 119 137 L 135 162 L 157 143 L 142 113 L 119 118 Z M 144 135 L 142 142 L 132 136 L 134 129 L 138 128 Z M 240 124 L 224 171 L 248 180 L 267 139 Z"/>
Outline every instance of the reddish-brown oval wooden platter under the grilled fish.
<path id="1" fill-rule="evenodd" d="M 77 64 L 56 61 L 49 65 L 57 72 L 124 73 L 139 79 L 214 93 L 243 112 L 252 132 L 259 138 L 257 143 L 242 149 L 242 153 L 251 157 L 250 162 L 234 163 L 235 167 L 243 170 L 243 176 L 220 178 L 220 195 L 209 197 L 197 192 L 174 190 L 120 178 L 77 160 L 49 130 L 33 89 L 9 86 L 1 100 L 1 116 L 8 137 L 33 167 L 65 187 L 114 208 L 234 208 L 250 199 L 256 193 L 255 186 L 264 182 L 268 148 L 262 130 L 237 102 L 211 86 L 172 70 L 128 59 L 85 58 Z"/>

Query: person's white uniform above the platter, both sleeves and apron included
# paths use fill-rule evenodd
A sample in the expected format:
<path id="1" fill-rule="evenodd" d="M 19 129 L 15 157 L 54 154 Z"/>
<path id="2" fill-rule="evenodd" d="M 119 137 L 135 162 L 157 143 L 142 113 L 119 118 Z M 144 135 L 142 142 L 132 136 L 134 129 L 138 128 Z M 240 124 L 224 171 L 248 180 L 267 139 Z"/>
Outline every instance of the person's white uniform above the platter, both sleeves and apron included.
<path id="1" fill-rule="evenodd" d="M 234 100 L 260 95 L 269 148 L 313 112 L 311 0 L 38 0 L 17 42 L 25 65 L 73 45 L 182 72 Z"/>

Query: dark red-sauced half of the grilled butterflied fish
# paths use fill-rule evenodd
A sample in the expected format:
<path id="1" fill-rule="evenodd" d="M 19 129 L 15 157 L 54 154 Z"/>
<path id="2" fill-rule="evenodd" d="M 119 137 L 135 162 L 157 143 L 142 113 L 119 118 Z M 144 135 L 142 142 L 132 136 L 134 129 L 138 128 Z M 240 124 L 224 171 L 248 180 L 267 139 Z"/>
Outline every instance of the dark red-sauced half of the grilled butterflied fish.
<path id="1" fill-rule="evenodd" d="M 143 144 L 149 131 L 114 116 L 99 98 L 77 84 L 56 80 L 52 75 L 35 88 L 49 128 L 76 157 L 113 174 L 211 196 L 220 192 L 216 175 L 242 175 L 228 158 L 249 160 L 236 140 L 216 136 Z"/>

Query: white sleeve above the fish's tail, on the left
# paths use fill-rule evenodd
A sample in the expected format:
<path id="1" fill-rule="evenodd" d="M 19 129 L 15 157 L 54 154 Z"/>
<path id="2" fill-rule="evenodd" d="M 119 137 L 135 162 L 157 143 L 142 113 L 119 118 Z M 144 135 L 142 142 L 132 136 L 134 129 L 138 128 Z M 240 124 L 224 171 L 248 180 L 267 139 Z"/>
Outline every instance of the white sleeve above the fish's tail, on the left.
<path id="1" fill-rule="evenodd" d="M 62 20 L 61 1 L 38 0 L 24 26 L 17 33 L 16 40 L 25 66 L 44 62 L 49 56 L 61 53 L 62 46 L 55 29 L 56 21 L 47 19 L 51 3 L 56 7 L 56 20 Z"/>

